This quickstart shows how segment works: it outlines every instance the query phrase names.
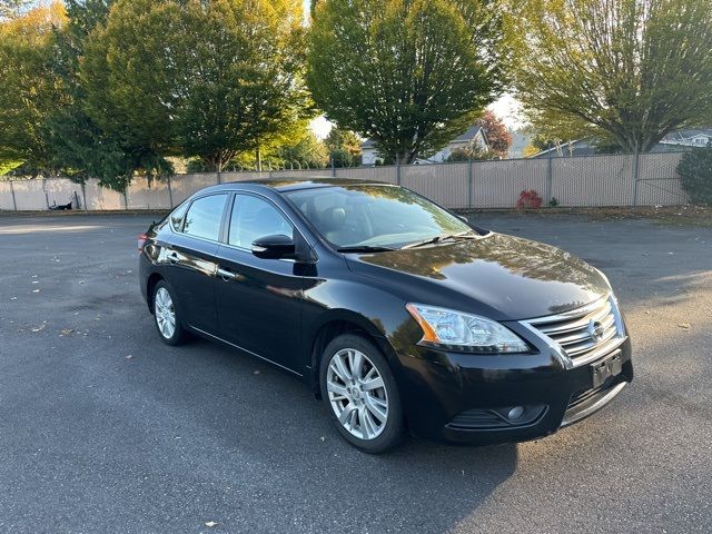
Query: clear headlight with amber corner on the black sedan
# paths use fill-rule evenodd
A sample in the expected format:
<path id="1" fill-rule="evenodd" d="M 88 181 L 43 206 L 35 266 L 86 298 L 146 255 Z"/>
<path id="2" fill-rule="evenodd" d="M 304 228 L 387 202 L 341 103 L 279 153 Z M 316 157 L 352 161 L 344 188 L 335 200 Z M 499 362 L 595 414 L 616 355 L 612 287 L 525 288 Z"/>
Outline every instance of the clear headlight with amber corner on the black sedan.
<path id="1" fill-rule="evenodd" d="M 426 344 L 472 353 L 530 352 L 516 334 L 494 320 L 424 304 L 409 303 L 406 309 L 423 328 Z"/>

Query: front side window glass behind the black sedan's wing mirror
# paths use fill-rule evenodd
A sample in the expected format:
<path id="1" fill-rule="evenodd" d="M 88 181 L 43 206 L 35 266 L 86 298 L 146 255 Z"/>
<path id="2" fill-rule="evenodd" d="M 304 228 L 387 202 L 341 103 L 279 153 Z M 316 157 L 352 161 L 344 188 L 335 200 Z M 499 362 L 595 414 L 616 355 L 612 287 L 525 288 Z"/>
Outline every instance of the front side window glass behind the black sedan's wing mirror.
<path id="1" fill-rule="evenodd" d="M 259 197 L 236 195 L 228 244 L 249 249 L 255 239 L 274 235 L 294 237 L 294 227 L 281 211 Z"/>

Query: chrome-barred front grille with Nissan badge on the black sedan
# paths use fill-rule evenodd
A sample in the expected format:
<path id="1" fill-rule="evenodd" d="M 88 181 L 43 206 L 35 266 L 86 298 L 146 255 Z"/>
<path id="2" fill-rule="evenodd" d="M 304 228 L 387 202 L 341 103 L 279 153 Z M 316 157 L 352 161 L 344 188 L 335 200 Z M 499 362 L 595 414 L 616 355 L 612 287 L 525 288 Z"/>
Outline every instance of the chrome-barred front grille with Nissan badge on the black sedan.
<path id="1" fill-rule="evenodd" d="M 612 297 L 526 323 L 557 343 L 574 363 L 589 360 L 599 348 L 623 337 L 619 310 Z"/>

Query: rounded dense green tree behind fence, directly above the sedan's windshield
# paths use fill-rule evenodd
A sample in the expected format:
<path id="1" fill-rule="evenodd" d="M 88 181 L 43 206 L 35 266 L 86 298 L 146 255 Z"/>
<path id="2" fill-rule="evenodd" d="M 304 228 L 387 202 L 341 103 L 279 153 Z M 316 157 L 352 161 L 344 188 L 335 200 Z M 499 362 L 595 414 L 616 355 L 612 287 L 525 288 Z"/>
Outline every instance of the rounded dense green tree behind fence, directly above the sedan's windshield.
<path id="1" fill-rule="evenodd" d="M 308 85 L 329 119 L 407 164 L 462 134 L 500 93 L 501 28 L 485 0 L 322 0 Z"/>

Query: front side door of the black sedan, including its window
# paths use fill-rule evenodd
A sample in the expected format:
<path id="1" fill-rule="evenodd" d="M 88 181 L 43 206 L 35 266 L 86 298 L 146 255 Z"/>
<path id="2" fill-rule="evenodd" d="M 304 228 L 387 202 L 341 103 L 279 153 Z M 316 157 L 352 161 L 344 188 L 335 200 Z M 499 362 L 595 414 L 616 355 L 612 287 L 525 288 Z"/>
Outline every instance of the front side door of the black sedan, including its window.
<path id="1" fill-rule="evenodd" d="M 216 303 L 221 337 L 298 374 L 301 342 L 299 266 L 251 253 L 255 239 L 297 231 L 265 197 L 236 194 L 225 244 L 218 249 Z"/>

